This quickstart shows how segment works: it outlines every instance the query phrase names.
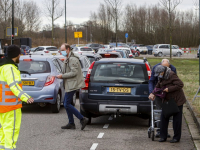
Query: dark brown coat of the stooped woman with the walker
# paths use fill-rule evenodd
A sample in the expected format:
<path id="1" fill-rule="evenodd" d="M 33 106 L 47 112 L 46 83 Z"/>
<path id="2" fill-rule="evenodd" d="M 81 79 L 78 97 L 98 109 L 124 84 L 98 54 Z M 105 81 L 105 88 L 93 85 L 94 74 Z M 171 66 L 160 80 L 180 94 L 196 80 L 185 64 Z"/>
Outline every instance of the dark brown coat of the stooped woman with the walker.
<path id="1" fill-rule="evenodd" d="M 183 86 L 184 86 L 183 82 L 178 78 L 178 76 L 173 71 L 170 72 L 168 80 L 161 79 L 158 81 L 156 85 L 157 88 L 162 88 L 162 87 L 168 88 L 168 93 L 165 97 L 165 100 L 173 98 L 178 106 L 181 106 L 186 102 L 186 97 L 182 89 Z"/>

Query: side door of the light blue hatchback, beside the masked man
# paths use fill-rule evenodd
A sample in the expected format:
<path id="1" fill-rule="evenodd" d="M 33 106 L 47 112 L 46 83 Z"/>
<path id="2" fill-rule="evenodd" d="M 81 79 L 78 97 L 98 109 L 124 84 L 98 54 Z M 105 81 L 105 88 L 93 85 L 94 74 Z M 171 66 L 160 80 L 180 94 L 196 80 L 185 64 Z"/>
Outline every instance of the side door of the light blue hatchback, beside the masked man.
<path id="1" fill-rule="evenodd" d="M 60 61 L 59 59 L 54 59 L 53 60 L 53 64 L 54 64 L 54 66 L 55 66 L 55 68 L 57 70 L 55 75 L 62 74 L 62 67 L 64 65 L 63 62 Z M 58 79 L 58 78 L 56 78 L 56 79 L 57 79 L 57 81 L 59 82 L 59 85 L 60 85 L 60 90 L 62 92 L 62 95 L 61 95 L 62 100 L 61 101 L 63 102 L 64 96 L 65 96 L 64 81 L 63 81 L 63 79 Z"/>

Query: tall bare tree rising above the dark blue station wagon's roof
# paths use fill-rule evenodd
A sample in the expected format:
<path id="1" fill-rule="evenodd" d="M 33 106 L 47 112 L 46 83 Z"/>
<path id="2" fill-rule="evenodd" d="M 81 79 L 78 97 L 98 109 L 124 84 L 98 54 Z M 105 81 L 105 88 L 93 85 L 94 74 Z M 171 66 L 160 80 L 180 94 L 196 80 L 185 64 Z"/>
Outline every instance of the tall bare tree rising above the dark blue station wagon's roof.
<path id="1" fill-rule="evenodd" d="M 115 39 L 116 39 L 116 47 L 117 47 L 117 31 L 118 31 L 118 19 L 120 16 L 120 11 L 122 8 L 122 0 L 104 0 L 105 3 L 110 6 L 111 10 L 109 13 L 112 15 L 115 21 Z"/>

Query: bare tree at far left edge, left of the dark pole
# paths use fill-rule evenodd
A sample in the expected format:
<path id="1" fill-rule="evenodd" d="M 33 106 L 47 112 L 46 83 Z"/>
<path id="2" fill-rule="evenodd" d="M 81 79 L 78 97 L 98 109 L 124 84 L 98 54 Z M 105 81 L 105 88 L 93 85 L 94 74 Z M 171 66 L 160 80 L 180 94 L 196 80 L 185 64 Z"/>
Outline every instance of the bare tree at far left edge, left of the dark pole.
<path id="1" fill-rule="evenodd" d="M 4 38 L 6 38 L 6 27 L 8 25 L 8 18 L 10 17 L 9 13 L 11 11 L 12 3 L 10 0 L 0 0 L 0 9 L 3 12 L 2 17 L 4 19 L 4 23 L 2 23 L 3 31 L 4 31 Z"/>

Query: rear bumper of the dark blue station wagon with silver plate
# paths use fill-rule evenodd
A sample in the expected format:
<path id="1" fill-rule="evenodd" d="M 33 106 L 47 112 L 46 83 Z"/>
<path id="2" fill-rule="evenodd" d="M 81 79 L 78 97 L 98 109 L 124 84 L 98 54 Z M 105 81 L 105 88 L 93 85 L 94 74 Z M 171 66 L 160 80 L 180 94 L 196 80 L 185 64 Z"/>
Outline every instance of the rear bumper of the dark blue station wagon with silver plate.
<path id="1" fill-rule="evenodd" d="M 118 100 L 94 100 L 88 99 L 88 94 L 79 95 L 81 111 L 94 114 L 105 115 L 114 114 L 150 114 L 151 101 L 118 101 Z M 116 112 L 115 112 L 116 111 Z"/>

